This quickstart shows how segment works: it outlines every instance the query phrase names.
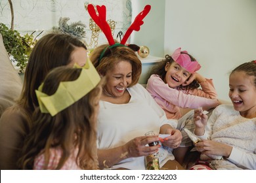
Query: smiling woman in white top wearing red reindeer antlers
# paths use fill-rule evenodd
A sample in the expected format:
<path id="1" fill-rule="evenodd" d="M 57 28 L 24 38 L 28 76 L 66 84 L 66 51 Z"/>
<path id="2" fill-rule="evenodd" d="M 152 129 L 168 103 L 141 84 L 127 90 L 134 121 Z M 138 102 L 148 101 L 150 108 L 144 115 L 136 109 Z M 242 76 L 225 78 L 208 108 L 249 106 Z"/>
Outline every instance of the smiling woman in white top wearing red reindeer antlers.
<path id="1" fill-rule="evenodd" d="M 139 31 L 142 19 L 150 5 L 135 18 L 120 43 L 116 43 L 106 22 L 106 7 L 88 6 L 88 12 L 106 35 L 109 44 L 98 46 L 90 59 L 98 73 L 106 76 L 106 85 L 100 97 L 97 142 L 100 169 L 146 169 L 145 156 L 159 152 L 160 167 L 171 163 L 173 155 L 163 146 L 151 142 L 161 141 L 164 146 L 181 143 L 181 132 L 175 127 L 177 120 L 167 120 L 165 112 L 138 83 L 142 65 L 129 46 L 125 45 L 133 30 Z M 161 138 L 144 134 L 148 131 L 171 134 Z M 177 167 L 175 167 L 177 168 Z M 168 169 L 168 167 L 166 168 Z"/>

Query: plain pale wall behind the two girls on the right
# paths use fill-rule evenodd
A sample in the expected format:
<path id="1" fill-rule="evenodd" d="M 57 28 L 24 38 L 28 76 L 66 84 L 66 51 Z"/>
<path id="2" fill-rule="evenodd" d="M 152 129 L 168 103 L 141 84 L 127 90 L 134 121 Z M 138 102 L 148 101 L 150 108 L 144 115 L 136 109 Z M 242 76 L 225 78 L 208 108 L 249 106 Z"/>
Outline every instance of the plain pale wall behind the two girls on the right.
<path id="1" fill-rule="evenodd" d="M 159 53 L 154 54 L 161 57 L 161 48 L 164 54 L 172 54 L 178 47 L 188 50 L 202 65 L 199 73 L 213 78 L 219 98 L 229 100 L 230 71 L 241 63 L 256 59 L 256 1 L 160 0 L 139 1 L 139 6 L 147 2 L 153 10 L 148 20 L 154 22 L 145 20 L 148 27 L 143 29 L 152 27 L 153 32 L 137 33 L 135 40 L 144 40 Z M 165 18 L 161 17 L 163 12 Z M 164 25 L 161 23 L 163 19 Z"/>

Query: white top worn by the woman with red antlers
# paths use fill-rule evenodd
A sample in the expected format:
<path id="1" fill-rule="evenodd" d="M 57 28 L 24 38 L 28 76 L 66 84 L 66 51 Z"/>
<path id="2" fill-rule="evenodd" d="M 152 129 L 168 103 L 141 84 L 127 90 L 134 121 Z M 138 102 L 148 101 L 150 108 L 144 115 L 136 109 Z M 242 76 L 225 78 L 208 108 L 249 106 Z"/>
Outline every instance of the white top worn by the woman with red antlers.
<path id="1" fill-rule="evenodd" d="M 97 142 L 99 149 L 122 146 L 135 137 L 143 136 L 148 131 L 157 135 L 163 124 L 177 127 L 177 120 L 167 120 L 165 112 L 158 106 L 151 95 L 140 84 L 127 88 L 131 99 L 127 104 L 113 104 L 100 101 L 98 114 Z M 174 159 L 173 154 L 160 148 L 160 167 L 168 160 Z M 146 169 L 144 156 L 128 158 L 120 161 L 113 168 Z"/>

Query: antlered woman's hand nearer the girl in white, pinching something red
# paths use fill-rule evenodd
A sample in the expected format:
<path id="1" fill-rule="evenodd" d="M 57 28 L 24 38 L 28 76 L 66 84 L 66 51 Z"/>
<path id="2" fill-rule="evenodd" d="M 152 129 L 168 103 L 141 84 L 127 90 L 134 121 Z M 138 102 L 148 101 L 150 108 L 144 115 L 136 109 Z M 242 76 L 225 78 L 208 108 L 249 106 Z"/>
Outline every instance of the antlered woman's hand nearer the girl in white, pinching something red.
<path id="1" fill-rule="evenodd" d="M 165 139 L 160 139 L 163 146 L 170 148 L 178 148 L 180 146 L 182 140 L 181 131 L 169 128 L 165 130 L 165 134 L 171 134 L 171 136 L 166 137 Z"/>

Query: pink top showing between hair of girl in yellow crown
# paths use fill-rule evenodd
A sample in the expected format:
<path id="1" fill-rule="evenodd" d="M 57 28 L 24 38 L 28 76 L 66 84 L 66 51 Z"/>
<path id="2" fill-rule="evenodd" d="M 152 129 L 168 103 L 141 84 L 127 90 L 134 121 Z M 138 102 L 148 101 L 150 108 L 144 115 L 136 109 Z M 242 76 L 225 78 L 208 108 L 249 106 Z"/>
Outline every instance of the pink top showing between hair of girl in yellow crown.
<path id="1" fill-rule="evenodd" d="M 54 170 L 58 166 L 58 162 L 62 156 L 61 148 L 51 148 L 50 149 L 50 159 L 47 169 Z M 70 157 L 66 160 L 64 165 L 60 168 L 61 170 L 81 170 L 81 168 L 75 163 L 75 158 L 77 155 L 77 150 L 74 151 L 74 154 L 71 154 Z M 45 154 L 40 154 L 35 158 L 33 169 L 42 170 L 45 164 Z"/>

